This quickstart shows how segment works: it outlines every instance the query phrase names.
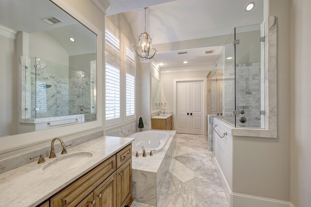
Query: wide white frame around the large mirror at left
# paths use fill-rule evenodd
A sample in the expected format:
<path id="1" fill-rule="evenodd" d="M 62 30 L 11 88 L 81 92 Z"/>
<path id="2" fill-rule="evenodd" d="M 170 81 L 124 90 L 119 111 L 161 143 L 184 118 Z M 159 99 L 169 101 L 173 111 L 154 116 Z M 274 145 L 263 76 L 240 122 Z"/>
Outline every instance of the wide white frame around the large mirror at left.
<path id="1" fill-rule="evenodd" d="M 86 17 L 82 16 L 75 8 L 64 0 L 51 0 L 60 9 L 91 30 L 97 39 L 96 61 L 97 61 L 97 105 L 103 105 L 103 31 L 93 25 Z M 53 129 L 46 129 L 25 134 L 18 134 L 0 138 L 0 159 L 29 151 L 30 149 L 46 146 L 52 138 L 62 137 L 64 140 L 78 137 L 83 134 L 103 130 L 103 109 L 97 108 L 97 120 Z"/>

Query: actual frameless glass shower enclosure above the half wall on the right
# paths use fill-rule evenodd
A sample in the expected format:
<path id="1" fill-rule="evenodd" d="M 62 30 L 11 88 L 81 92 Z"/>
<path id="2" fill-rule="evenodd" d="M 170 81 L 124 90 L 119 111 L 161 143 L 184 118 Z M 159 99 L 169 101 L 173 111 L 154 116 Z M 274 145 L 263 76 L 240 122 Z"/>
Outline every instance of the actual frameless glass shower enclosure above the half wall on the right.
<path id="1" fill-rule="evenodd" d="M 216 91 L 212 92 L 212 105 L 217 102 L 219 108 L 212 114 L 234 127 L 265 128 L 261 36 L 264 36 L 263 24 L 236 27 L 212 67 L 212 80 L 219 83 L 212 87 Z"/>

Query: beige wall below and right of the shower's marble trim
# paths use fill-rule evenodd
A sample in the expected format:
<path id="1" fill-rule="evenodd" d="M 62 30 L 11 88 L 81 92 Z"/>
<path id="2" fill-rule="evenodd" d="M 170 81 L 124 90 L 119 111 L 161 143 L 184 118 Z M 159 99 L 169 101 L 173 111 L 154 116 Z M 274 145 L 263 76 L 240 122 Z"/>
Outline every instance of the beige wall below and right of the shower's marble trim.
<path id="1" fill-rule="evenodd" d="M 265 3 L 267 16 L 277 17 L 277 138 L 234 138 L 232 191 L 289 201 L 290 0 Z"/>

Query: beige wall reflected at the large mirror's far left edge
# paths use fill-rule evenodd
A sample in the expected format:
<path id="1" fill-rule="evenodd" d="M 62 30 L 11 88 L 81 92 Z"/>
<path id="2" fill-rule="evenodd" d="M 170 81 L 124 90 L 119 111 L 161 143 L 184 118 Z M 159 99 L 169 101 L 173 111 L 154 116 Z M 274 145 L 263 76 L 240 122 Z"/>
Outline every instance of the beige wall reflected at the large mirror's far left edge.
<path id="1" fill-rule="evenodd" d="M 17 133 L 18 66 L 16 40 L 0 35 L 0 137 Z"/>

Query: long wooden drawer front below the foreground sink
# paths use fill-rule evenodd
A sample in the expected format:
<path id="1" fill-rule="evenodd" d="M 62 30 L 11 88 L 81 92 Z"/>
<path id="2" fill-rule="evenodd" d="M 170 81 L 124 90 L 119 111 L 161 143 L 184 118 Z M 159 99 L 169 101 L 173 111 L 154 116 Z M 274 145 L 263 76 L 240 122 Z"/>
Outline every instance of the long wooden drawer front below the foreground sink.
<path id="1" fill-rule="evenodd" d="M 50 199 L 50 207 L 74 207 L 116 170 L 113 155 Z"/>

